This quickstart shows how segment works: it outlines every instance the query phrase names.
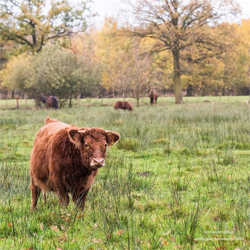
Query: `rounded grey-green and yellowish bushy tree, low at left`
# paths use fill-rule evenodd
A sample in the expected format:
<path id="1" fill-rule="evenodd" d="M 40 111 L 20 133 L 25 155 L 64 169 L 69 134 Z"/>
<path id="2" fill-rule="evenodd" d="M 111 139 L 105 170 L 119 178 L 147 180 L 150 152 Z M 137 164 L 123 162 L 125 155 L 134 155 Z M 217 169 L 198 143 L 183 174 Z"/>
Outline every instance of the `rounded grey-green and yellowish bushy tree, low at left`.
<path id="1" fill-rule="evenodd" d="M 63 106 L 74 95 L 94 89 L 99 81 L 99 72 L 84 57 L 58 45 L 47 45 L 36 55 L 20 55 L 1 71 L 2 85 L 21 89 L 36 98 L 37 106 L 44 95 L 55 95 Z"/>

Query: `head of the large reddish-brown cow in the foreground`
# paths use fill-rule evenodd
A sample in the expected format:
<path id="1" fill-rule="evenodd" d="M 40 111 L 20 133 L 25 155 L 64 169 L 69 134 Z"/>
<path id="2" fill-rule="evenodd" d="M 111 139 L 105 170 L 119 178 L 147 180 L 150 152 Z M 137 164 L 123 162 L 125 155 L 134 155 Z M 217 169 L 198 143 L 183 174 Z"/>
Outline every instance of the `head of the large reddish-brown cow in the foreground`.
<path id="1" fill-rule="evenodd" d="M 69 139 L 80 150 L 84 166 L 96 170 L 105 165 L 106 150 L 119 139 L 118 133 L 102 128 L 72 128 Z"/>

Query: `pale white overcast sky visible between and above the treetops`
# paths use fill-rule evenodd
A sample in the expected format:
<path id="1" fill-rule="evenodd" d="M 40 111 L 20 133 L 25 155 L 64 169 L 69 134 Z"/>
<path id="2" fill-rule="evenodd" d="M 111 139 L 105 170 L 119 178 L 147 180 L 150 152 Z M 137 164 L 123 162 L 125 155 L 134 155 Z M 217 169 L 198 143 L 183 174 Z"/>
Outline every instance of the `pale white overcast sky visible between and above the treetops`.
<path id="1" fill-rule="evenodd" d="M 250 0 L 236 0 L 242 7 L 241 19 L 250 19 Z M 122 8 L 120 0 L 93 0 L 92 11 L 99 14 L 94 24 L 97 28 L 102 26 L 105 16 L 117 16 Z"/>

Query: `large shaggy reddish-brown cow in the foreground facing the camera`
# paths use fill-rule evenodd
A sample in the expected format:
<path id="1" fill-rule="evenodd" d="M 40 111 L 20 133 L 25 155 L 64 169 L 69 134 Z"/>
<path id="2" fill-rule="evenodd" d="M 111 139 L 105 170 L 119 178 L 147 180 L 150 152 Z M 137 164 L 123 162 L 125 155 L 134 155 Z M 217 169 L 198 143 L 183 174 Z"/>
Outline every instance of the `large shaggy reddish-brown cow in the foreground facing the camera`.
<path id="1" fill-rule="evenodd" d="M 73 201 L 84 208 L 98 169 L 105 165 L 106 149 L 120 135 L 102 128 L 78 128 L 47 118 L 36 135 L 30 161 L 32 206 L 41 190 L 56 192 L 61 204 Z"/>

